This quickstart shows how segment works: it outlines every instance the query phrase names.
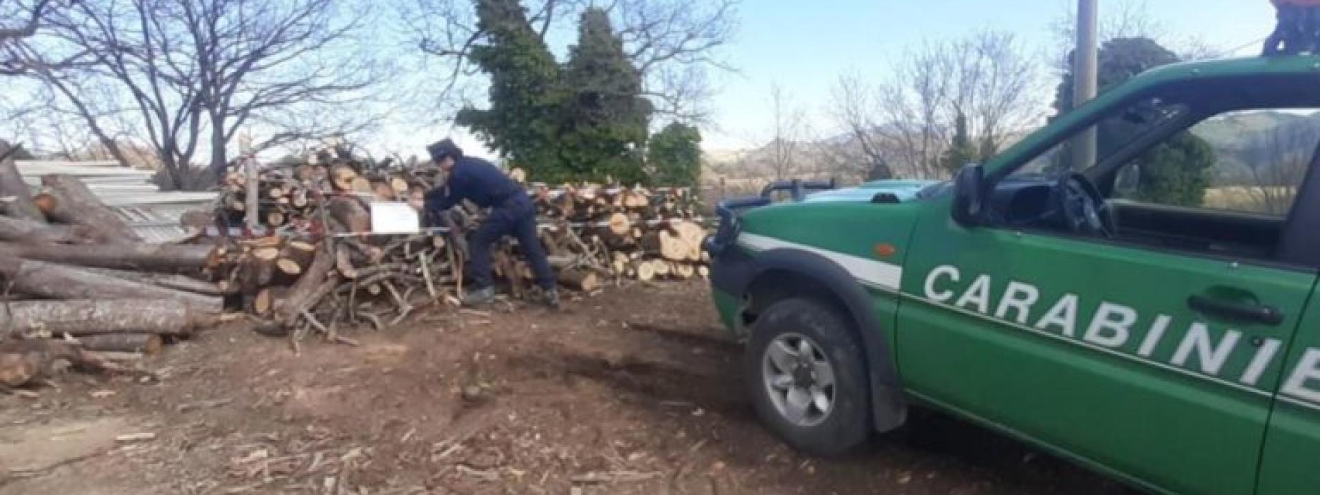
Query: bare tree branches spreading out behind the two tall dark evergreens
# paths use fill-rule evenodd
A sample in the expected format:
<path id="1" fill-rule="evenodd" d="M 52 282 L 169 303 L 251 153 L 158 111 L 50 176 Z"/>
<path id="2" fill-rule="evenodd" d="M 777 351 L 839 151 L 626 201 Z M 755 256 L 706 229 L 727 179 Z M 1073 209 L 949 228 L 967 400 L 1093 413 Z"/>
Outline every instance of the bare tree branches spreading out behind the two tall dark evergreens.
<path id="1" fill-rule="evenodd" d="M 471 3 L 408 0 L 400 12 L 430 63 L 444 66 L 436 95 L 442 102 L 462 100 L 465 82 L 477 74 L 467 55 L 482 33 Z M 642 73 L 643 94 L 657 112 L 690 121 L 705 114 L 706 70 L 727 69 L 717 51 L 733 40 L 739 4 L 741 0 L 529 0 L 524 7 L 543 40 L 556 29 L 572 28 L 570 22 L 587 7 L 605 8 Z"/>

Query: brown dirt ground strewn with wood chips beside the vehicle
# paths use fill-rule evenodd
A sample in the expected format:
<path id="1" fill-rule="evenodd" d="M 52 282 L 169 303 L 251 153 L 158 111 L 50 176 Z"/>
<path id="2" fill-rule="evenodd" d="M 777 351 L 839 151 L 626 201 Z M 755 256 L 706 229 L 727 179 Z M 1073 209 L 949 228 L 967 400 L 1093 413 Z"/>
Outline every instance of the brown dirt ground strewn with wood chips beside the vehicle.
<path id="1" fill-rule="evenodd" d="M 360 347 L 220 329 L 156 378 L 0 395 L 0 494 L 1114 494 L 942 414 L 813 459 L 762 429 L 701 282 L 430 313 Z"/>

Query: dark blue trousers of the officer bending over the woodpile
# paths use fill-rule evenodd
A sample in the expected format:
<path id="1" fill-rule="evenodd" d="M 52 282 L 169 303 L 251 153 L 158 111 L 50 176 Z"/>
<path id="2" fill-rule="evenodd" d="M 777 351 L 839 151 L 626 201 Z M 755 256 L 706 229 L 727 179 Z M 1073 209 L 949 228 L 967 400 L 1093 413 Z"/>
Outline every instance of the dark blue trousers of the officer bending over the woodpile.
<path id="1" fill-rule="evenodd" d="M 471 253 L 470 275 L 474 288 L 491 285 L 491 248 L 506 235 L 517 239 L 517 246 L 527 255 L 527 263 L 532 265 L 536 285 L 553 289 L 554 271 L 550 269 L 550 261 L 545 259 L 545 249 L 536 235 L 536 207 L 532 199 L 523 194 L 492 207 L 486 222 L 473 232 L 467 248 Z"/>

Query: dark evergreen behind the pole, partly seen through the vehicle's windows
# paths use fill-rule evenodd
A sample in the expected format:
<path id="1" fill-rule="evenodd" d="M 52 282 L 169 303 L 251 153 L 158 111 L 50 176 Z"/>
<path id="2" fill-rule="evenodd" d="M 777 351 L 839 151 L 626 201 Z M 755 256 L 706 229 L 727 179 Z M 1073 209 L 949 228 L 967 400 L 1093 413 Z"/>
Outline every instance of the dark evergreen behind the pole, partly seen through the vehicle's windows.
<path id="1" fill-rule="evenodd" d="M 1115 38 L 1101 48 L 1097 83 L 1106 91 L 1146 70 L 1175 63 L 1177 55 L 1151 38 Z M 1060 115 L 1073 106 L 1073 74 L 1064 74 L 1056 91 L 1055 108 Z M 1110 119 L 1100 125 L 1097 149 L 1117 149 L 1129 143 L 1139 125 Z M 1181 132 L 1137 157 L 1137 197 L 1134 199 L 1181 206 L 1200 206 L 1209 185 L 1214 150 L 1205 140 Z M 1131 165 L 1130 165 L 1131 166 Z"/>

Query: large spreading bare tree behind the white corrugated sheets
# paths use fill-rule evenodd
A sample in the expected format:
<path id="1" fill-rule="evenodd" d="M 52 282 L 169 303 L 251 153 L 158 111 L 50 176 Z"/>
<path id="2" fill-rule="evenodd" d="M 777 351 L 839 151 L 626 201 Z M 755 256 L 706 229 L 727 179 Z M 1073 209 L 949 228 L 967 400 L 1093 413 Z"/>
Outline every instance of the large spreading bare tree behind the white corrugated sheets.
<path id="1" fill-rule="evenodd" d="M 376 71 L 355 54 L 360 18 L 343 0 L 84 0 L 45 18 L 49 51 L 79 54 L 74 69 L 37 77 L 123 160 L 106 112 L 136 115 L 176 187 L 199 149 L 227 162 L 239 128 L 279 125 L 281 114 L 363 98 Z M 98 87 L 99 86 L 99 87 Z M 104 102 L 124 95 L 127 108 Z M 285 128 L 264 145 L 342 132 L 367 115 L 322 112 L 314 128 Z M 124 131 L 124 129 L 119 129 Z"/>

